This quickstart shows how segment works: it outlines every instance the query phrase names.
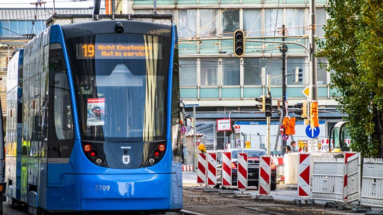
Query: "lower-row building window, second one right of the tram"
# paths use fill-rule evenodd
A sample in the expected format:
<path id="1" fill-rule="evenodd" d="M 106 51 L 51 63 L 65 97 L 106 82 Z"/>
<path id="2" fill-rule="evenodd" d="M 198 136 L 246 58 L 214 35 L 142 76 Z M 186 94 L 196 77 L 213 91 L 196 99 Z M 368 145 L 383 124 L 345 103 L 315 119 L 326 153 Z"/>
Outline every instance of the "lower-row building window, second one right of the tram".
<path id="1" fill-rule="evenodd" d="M 201 58 L 200 59 L 200 84 L 201 86 L 218 85 L 218 59 Z"/>

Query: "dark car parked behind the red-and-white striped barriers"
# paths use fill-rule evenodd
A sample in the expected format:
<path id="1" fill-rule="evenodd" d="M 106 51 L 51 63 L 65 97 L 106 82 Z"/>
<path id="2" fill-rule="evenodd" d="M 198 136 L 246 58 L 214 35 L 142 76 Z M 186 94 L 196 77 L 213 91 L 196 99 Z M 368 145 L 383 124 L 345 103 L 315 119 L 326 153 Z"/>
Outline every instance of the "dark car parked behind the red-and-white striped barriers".
<path id="1" fill-rule="evenodd" d="M 232 186 L 237 186 L 237 168 L 238 168 L 238 152 L 247 152 L 247 185 L 258 187 L 258 177 L 259 177 L 259 158 L 263 155 L 268 155 L 267 152 L 263 149 L 255 148 L 231 148 L 228 149 L 231 151 L 231 180 Z M 277 168 L 276 165 L 271 161 L 271 190 L 277 189 Z M 219 160 L 217 163 L 217 185 L 216 188 L 219 188 L 222 181 L 222 160 Z"/>

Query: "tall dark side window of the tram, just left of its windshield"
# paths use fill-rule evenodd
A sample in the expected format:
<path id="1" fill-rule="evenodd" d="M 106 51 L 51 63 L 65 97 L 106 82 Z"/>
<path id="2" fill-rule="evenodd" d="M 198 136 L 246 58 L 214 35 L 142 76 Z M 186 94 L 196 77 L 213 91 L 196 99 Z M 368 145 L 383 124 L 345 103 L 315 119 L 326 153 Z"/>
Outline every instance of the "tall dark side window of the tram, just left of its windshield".
<path id="1" fill-rule="evenodd" d="M 60 157 L 69 157 L 74 144 L 72 102 L 63 49 L 51 44 L 49 52 L 49 130 L 48 144 Z M 52 155 L 53 155 L 52 154 Z M 49 151 L 48 151 L 49 155 Z"/>

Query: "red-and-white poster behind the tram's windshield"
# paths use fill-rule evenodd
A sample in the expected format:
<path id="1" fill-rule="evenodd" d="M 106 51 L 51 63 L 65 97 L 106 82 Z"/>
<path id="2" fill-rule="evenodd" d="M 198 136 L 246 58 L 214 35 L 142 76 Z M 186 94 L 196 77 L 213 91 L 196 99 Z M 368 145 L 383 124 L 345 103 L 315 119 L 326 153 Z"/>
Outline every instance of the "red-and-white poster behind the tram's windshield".
<path id="1" fill-rule="evenodd" d="M 103 126 L 105 121 L 105 98 L 89 98 L 87 107 L 87 126 Z"/>

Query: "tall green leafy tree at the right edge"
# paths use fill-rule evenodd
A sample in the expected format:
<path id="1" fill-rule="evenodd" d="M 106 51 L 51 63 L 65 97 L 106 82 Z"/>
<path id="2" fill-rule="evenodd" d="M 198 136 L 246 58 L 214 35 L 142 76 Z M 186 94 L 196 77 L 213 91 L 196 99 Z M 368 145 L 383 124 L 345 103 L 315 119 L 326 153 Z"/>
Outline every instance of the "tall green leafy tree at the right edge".
<path id="1" fill-rule="evenodd" d="M 329 0 L 331 18 L 318 41 L 339 111 L 349 121 L 353 150 L 383 157 L 383 1 Z"/>

